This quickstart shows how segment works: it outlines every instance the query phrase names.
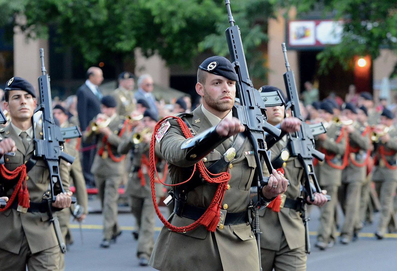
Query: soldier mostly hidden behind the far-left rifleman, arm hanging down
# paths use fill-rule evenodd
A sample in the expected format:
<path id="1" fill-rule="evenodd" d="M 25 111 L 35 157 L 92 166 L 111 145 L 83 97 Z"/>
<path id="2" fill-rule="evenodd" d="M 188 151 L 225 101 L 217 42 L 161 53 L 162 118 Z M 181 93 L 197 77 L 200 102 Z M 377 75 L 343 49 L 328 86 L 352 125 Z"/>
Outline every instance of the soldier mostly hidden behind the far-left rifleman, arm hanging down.
<path id="1" fill-rule="evenodd" d="M 55 105 L 54 109 L 52 110 L 52 113 L 54 114 L 54 117 L 58 119 L 61 128 L 74 126 L 71 123 L 69 123 L 68 121 L 69 112 L 62 105 Z M 75 158 L 73 164 L 69 164 L 69 163 L 67 164 L 69 170 L 70 183 L 72 184 L 73 181 L 73 185 L 76 189 L 75 195 L 77 199 L 77 204 L 79 204 L 84 209 L 83 214 L 79 218 L 76 218 L 77 221 L 79 222 L 83 221 L 88 214 L 87 187 L 85 186 L 83 170 L 81 168 L 81 163 L 80 163 L 80 155 L 78 152 L 80 141 L 81 138 L 72 138 L 72 139 L 67 139 L 65 142 L 67 146 L 67 153 Z M 64 209 L 60 212 L 62 215 L 59 215 L 62 235 L 64 236 L 64 240 L 66 244 L 73 243 L 71 239 L 72 236 L 70 230 L 68 229 L 70 212 L 71 209 Z M 63 266 L 62 259 L 63 257 L 61 255 L 61 264 L 60 264 L 61 269 Z"/>

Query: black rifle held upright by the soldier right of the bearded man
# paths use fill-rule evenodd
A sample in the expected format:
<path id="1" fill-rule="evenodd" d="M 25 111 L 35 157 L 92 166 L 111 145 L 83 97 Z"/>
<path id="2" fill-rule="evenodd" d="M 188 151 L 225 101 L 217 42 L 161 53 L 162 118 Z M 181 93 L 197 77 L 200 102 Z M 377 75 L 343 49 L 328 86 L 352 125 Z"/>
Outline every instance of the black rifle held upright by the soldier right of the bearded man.
<path id="1" fill-rule="evenodd" d="M 288 147 L 289 152 L 292 157 L 297 157 L 304 171 L 304 192 L 309 197 L 310 201 L 314 201 L 313 192 L 321 193 L 320 185 L 316 175 L 313 170 L 313 158 L 317 158 L 322 161 L 325 155 L 314 148 L 314 136 L 326 133 L 326 128 L 322 123 L 318 124 L 307 124 L 301 114 L 301 109 L 299 108 L 299 98 L 298 92 L 295 84 L 294 73 L 291 70 L 288 58 L 287 49 L 285 48 L 285 43 L 281 45 L 285 58 L 285 66 L 287 67 L 287 72 L 285 72 L 284 83 L 285 89 L 287 90 L 288 102 L 285 106 L 285 112 L 291 108 L 291 113 L 293 117 L 297 117 L 302 121 L 301 129 L 295 133 L 289 133 L 288 135 Z M 328 201 L 331 197 L 327 195 Z M 306 229 L 306 253 L 310 253 L 310 241 L 309 241 L 309 231 L 308 231 L 308 218 L 306 214 L 306 195 L 302 197 L 301 200 L 301 217 Z"/>

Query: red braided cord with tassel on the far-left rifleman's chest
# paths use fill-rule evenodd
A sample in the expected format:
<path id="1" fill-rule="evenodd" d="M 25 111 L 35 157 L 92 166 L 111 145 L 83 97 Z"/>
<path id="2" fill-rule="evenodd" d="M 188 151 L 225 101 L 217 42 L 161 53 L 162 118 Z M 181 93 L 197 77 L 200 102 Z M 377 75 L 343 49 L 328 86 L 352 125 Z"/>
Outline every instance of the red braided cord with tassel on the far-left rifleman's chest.
<path id="1" fill-rule="evenodd" d="M 12 192 L 10 199 L 7 201 L 6 207 L 1 208 L 0 212 L 6 211 L 12 205 L 15 197 L 18 194 L 18 205 L 23 208 L 29 208 L 29 191 L 27 190 L 26 184 L 26 165 L 22 164 L 15 170 L 10 171 L 2 164 L 0 165 L 0 175 L 4 181 L 11 181 L 19 176 L 18 182 L 15 185 L 15 189 Z M 23 189 L 23 181 L 25 181 L 25 189 Z"/>

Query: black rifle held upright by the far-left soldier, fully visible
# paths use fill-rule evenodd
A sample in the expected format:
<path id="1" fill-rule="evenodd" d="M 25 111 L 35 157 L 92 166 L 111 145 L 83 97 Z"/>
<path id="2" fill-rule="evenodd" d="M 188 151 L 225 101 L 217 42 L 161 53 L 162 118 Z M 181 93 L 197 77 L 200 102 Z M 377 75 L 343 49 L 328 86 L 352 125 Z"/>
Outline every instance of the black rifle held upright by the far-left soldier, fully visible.
<path id="1" fill-rule="evenodd" d="M 51 100 L 51 89 L 50 89 L 50 76 L 46 74 L 46 68 L 44 67 L 44 53 L 43 49 L 40 49 L 41 59 L 41 72 L 42 75 L 39 77 L 39 105 L 35 109 L 42 111 L 42 133 L 43 139 L 39 139 L 33 129 L 33 138 L 35 143 L 35 159 L 43 159 L 47 166 L 50 175 L 50 189 L 47 191 L 43 200 L 48 203 L 48 214 L 50 220 L 54 224 L 55 233 L 58 238 L 58 242 L 63 253 L 66 252 L 66 246 L 62 238 L 62 234 L 59 227 L 58 218 L 53 216 L 52 213 L 55 211 L 52 207 L 52 203 L 55 202 L 56 195 L 64 193 L 64 187 L 59 172 L 60 159 L 73 163 L 74 157 L 63 152 L 63 143 L 66 139 L 81 137 L 80 129 L 75 127 L 60 128 L 54 122 L 52 115 L 52 100 Z M 72 203 L 76 202 L 76 198 L 72 197 Z"/>

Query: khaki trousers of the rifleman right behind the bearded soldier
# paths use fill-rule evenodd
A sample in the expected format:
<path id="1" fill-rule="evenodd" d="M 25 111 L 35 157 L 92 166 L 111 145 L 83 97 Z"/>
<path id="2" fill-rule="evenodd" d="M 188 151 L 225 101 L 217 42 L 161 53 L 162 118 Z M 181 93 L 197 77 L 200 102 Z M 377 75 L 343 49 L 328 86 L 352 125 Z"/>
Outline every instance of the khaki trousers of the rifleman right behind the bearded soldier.
<path id="1" fill-rule="evenodd" d="M 305 271 L 306 270 L 306 253 L 304 246 L 290 250 L 284 234 L 281 236 L 281 246 L 279 251 L 266 250 L 260 248 L 260 259 L 263 271 L 287 270 L 287 271 Z"/>

